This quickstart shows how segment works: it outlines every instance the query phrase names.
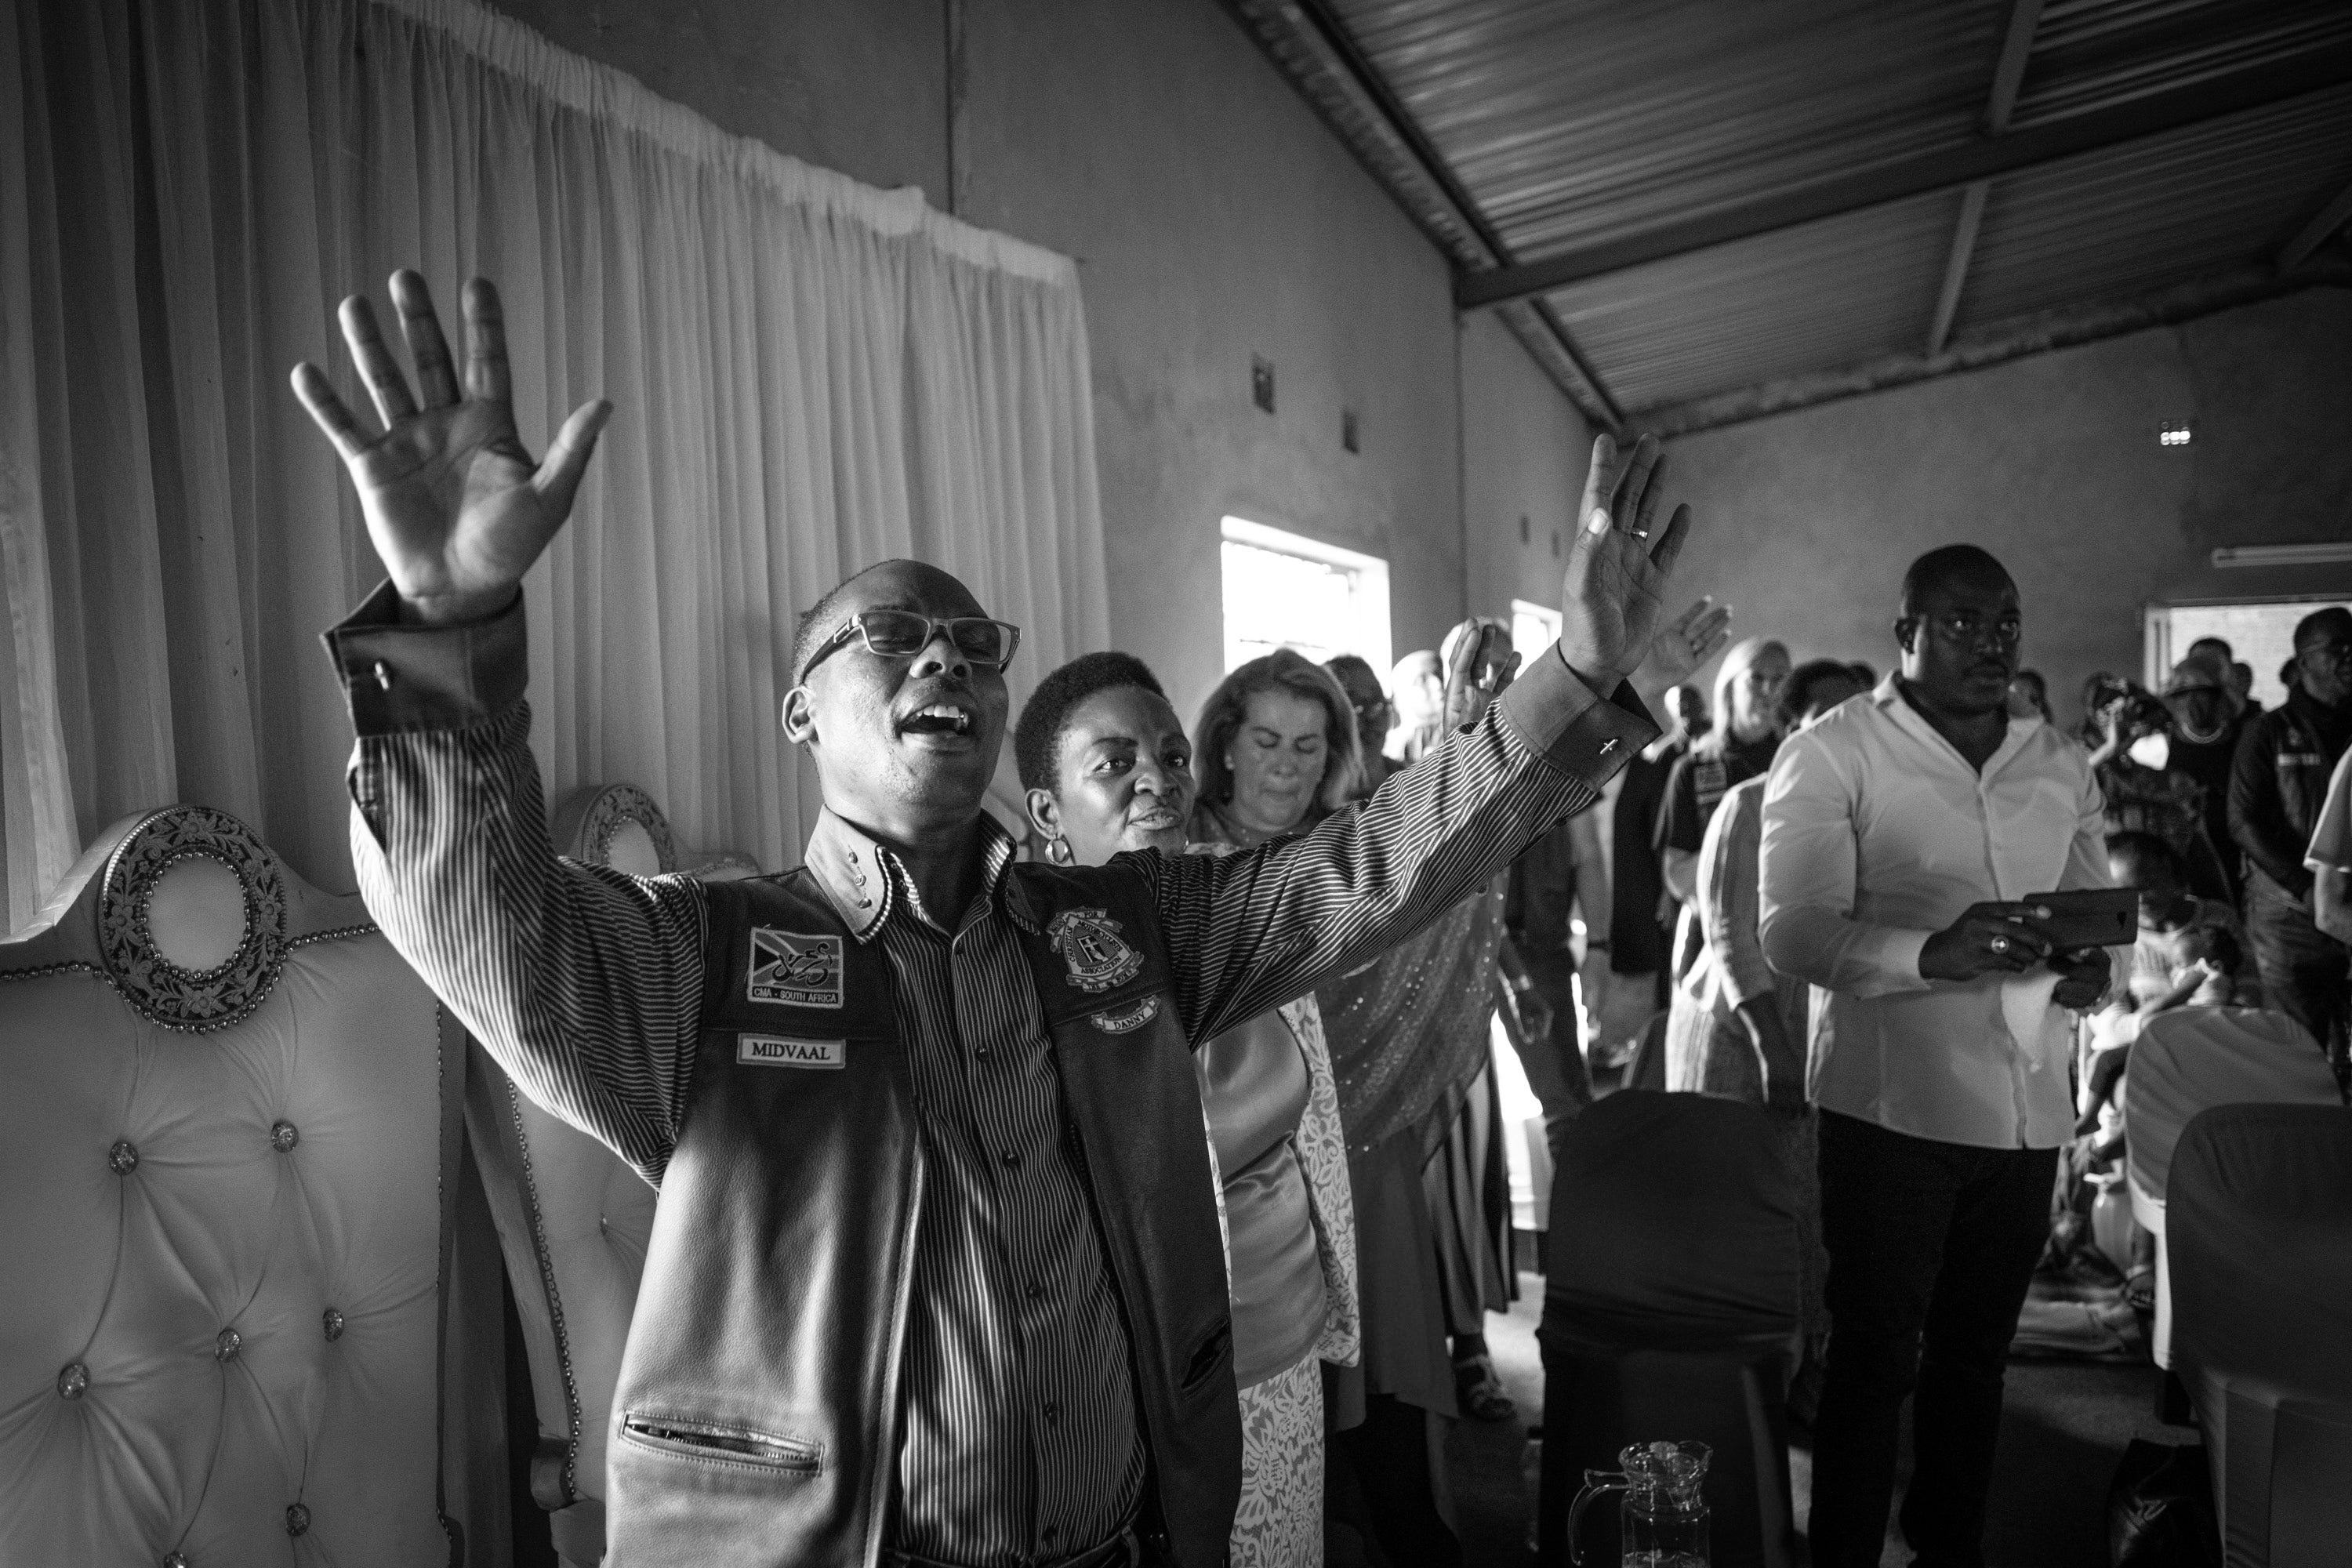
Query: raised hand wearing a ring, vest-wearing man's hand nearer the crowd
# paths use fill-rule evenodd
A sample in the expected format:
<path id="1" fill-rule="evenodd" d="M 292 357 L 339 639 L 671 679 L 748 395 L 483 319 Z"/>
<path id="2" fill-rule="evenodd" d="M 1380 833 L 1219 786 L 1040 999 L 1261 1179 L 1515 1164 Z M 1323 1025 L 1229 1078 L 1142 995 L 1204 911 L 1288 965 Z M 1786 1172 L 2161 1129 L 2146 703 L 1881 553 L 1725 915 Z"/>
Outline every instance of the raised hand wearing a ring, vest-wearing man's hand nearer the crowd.
<path id="1" fill-rule="evenodd" d="M 1559 656 L 1595 691 L 1616 691 L 1651 656 L 1665 581 L 1691 531 L 1691 508 L 1677 505 L 1653 536 L 1665 458 L 1658 437 L 1618 458 L 1606 435 L 1592 442 L 1592 473 L 1576 510 L 1576 545 L 1559 590 Z"/>

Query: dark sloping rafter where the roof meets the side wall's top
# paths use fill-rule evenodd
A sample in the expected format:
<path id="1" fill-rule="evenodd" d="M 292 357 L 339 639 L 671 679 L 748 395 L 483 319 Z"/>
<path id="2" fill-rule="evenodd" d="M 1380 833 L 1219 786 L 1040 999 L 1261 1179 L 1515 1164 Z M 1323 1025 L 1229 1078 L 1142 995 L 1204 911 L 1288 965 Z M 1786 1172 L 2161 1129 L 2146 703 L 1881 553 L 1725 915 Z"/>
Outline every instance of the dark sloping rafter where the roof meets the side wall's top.
<path id="1" fill-rule="evenodd" d="M 1463 273 L 1512 263 L 1503 235 L 1486 221 L 1477 200 L 1397 99 L 1388 78 L 1364 56 L 1329 0 L 1225 0 L 1225 7 L 1272 54 L 1301 96 L 1331 122 L 1331 129 L 1404 207 L 1406 216 L 1454 256 L 1456 282 Z M 1324 82 L 1345 99 L 1352 113 L 1334 113 L 1334 106 L 1303 78 L 1301 61 L 1284 45 L 1310 56 Z M 1364 146 L 1367 132 L 1383 143 L 1378 153 Z M 1585 418 L 1611 433 L 1625 428 L 1625 409 L 1550 303 L 1541 299 L 1512 301 L 1501 315 Z"/>

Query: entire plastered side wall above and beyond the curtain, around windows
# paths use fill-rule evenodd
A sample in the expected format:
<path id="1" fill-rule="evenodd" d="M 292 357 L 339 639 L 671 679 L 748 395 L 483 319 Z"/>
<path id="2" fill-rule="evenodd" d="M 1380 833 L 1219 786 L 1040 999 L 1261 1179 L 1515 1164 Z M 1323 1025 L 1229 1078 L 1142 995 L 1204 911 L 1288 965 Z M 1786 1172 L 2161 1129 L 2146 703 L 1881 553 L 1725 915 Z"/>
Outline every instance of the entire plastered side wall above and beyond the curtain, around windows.
<path id="1" fill-rule="evenodd" d="M 1444 259 L 1216 0 L 967 0 L 960 78 L 946 0 L 494 2 L 795 158 L 943 209 L 953 179 L 960 216 L 1080 261 L 1112 635 L 1181 710 L 1223 675 L 1228 512 L 1385 557 L 1397 651 L 1435 646 L 1468 602 L 1470 442 L 1479 550 L 1510 541 L 1479 607 L 1557 597 L 1522 581 L 1517 520 L 1548 559 L 1573 409 L 1494 322 L 1456 343 Z"/>

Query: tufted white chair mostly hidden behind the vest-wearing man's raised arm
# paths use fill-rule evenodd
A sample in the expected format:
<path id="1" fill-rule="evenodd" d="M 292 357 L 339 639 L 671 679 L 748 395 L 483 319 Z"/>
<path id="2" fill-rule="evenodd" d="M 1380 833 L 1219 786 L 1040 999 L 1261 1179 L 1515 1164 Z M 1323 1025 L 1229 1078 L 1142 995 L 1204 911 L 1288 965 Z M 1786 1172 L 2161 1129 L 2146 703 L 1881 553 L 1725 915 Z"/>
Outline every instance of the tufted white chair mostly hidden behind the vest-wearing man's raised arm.
<path id="1" fill-rule="evenodd" d="M 743 856 L 680 853 L 661 809 L 635 785 L 567 797 L 553 837 L 574 860 L 637 877 L 757 875 Z M 532 1359 L 532 1497 L 550 1512 L 557 1556 L 593 1568 L 604 1561 L 604 1427 L 654 1232 L 654 1190 L 602 1143 L 532 1105 L 477 1041 L 466 1060 L 466 1135 Z"/>

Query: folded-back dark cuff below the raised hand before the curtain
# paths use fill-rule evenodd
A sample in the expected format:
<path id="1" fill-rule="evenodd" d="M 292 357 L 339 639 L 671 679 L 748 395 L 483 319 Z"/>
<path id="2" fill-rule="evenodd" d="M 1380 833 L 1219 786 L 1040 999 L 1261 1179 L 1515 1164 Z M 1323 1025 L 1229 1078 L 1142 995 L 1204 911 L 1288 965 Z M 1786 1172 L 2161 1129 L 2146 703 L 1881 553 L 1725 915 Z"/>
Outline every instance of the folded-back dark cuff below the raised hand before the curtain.
<path id="1" fill-rule="evenodd" d="M 520 592 L 487 621 L 402 625 L 386 581 L 320 642 L 362 736 L 487 724 L 522 701 L 532 672 Z"/>

